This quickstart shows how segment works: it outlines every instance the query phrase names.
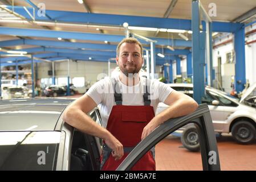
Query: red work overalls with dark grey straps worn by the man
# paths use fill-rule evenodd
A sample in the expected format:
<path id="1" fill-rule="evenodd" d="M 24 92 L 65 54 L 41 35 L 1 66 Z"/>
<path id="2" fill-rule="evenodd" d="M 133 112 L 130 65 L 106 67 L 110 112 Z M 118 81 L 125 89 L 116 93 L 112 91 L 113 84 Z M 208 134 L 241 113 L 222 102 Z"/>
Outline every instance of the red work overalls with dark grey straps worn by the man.
<path id="1" fill-rule="evenodd" d="M 144 127 L 155 117 L 153 107 L 150 105 L 151 100 L 148 99 L 148 89 L 143 96 L 144 106 L 125 106 L 122 105 L 121 93 L 117 93 L 119 86 L 116 81 L 115 88 L 116 105 L 112 107 L 109 115 L 107 130 L 123 144 L 124 155 L 121 159 L 115 160 L 111 154 L 111 148 L 104 144 L 103 155 L 101 155 L 101 159 L 103 159 L 101 170 L 115 170 L 141 141 Z M 155 171 L 156 163 L 152 151 L 148 151 L 131 169 L 132 171 Z"/>

